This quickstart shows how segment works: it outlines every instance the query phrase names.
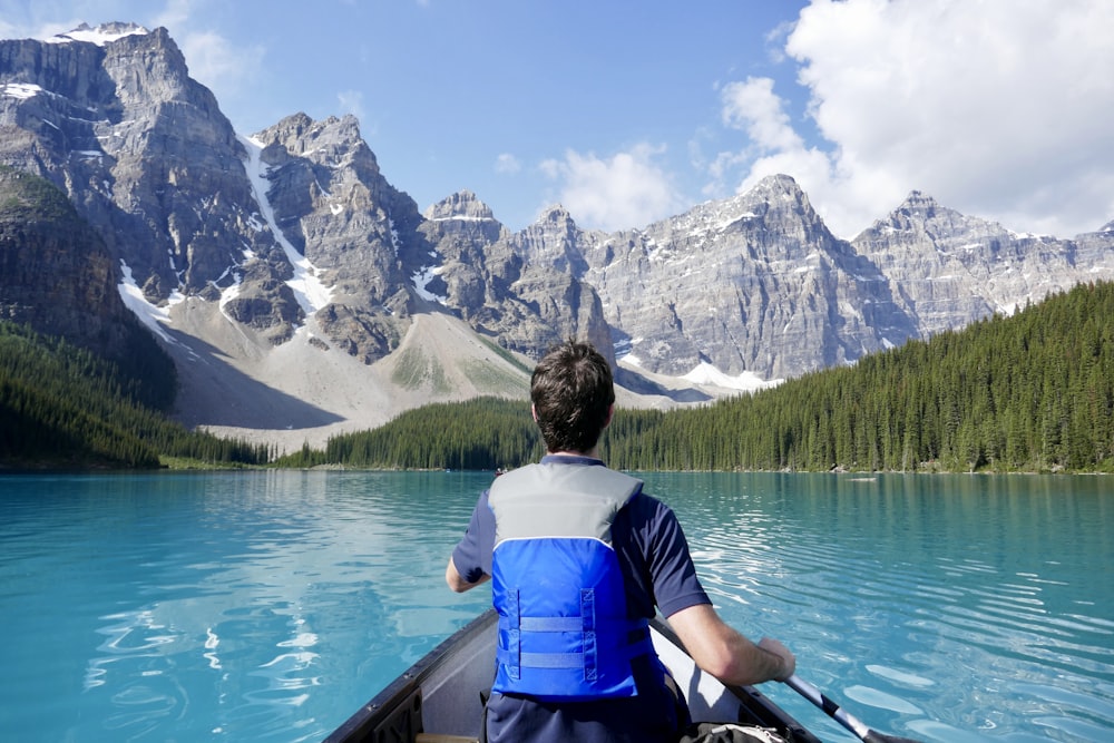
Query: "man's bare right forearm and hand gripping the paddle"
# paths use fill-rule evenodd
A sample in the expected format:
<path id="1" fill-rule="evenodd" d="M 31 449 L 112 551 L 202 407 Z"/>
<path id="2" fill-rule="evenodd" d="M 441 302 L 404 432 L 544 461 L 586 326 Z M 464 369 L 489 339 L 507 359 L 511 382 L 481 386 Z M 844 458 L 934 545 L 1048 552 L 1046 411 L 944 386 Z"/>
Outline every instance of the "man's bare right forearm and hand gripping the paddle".
<path id="1" fill-rule="evenodd" d="M 770 637 L 755 645 L 724 624 L 710 604 L 681 609 L 668 620 L 696 665 L 725 683 L 785 681 L 797 671 L 789 648 Z"/>

